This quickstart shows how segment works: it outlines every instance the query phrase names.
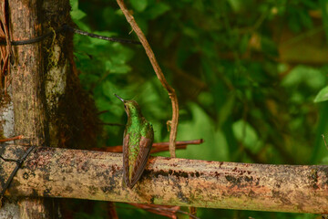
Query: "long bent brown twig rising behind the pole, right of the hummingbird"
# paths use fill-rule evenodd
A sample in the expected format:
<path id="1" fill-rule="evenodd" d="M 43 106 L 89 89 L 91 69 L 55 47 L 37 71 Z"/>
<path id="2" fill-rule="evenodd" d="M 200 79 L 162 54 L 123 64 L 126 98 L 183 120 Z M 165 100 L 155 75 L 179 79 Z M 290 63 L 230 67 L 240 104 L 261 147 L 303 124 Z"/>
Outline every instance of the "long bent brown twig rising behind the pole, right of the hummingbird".
<path id="1" fill-rule="evenodd" d="M 156 60 L 154 52 L 152 51 L 151 47 L 149 46 L 149 42 L 147 41 L 146 36 L 141 31 L 140 27 L 138 26 L 137 22 L 135 21 L 134 17 L 128 12 L 127 6 L 124 4 L 123 0 L 117 0 L 118 6 L 122 10 L 124 16 L 127 18 L 128 23 L 132 26 L 132 29 L 137 34 L 138 39 L 140 40 L 142 46 L 146 50 L 146 54 L 149 57 L 149 61 L 154 68 L 154 71 L 159 78 L 160 83 L 164 87 L 164 89 L 168 90 L 169 99 L 172 102 L 172 120 L 170 121 L 170 132 L 169 132 L 169 154 L 171 157 L 176 157 L 175 154 L 175 141 L 177 139 L 177 130 L 178 130 L 178 120 L 179 120 L 179 104 L 178 98 L 175 90 L 169 86 L 168 81 L 163 75 L 163 72 L 159 68 L 159 63 Z"/>

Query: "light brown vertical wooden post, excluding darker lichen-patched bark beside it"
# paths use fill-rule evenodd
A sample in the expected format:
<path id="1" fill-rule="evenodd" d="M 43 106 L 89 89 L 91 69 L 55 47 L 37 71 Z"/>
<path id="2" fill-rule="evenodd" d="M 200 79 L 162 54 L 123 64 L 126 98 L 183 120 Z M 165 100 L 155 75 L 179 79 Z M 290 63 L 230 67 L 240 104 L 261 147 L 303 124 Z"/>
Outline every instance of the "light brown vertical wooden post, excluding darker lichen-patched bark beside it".
<path id="1" fill-rule="evenodd" d="M 42 35 L 39 1 L 9 1 L 10 33 L 12 40 L 24 40 Z M 28 143 L 46 145 L 48 126 L 42 42 L 14 47 L 12 92 L 15 115 L 15 134 L 24 135 Z M 51 199 L 22 198 L 17 202 L 20 218 L 51 218 Z M 55 211 L 57 212 L 57 211 Z"/>

